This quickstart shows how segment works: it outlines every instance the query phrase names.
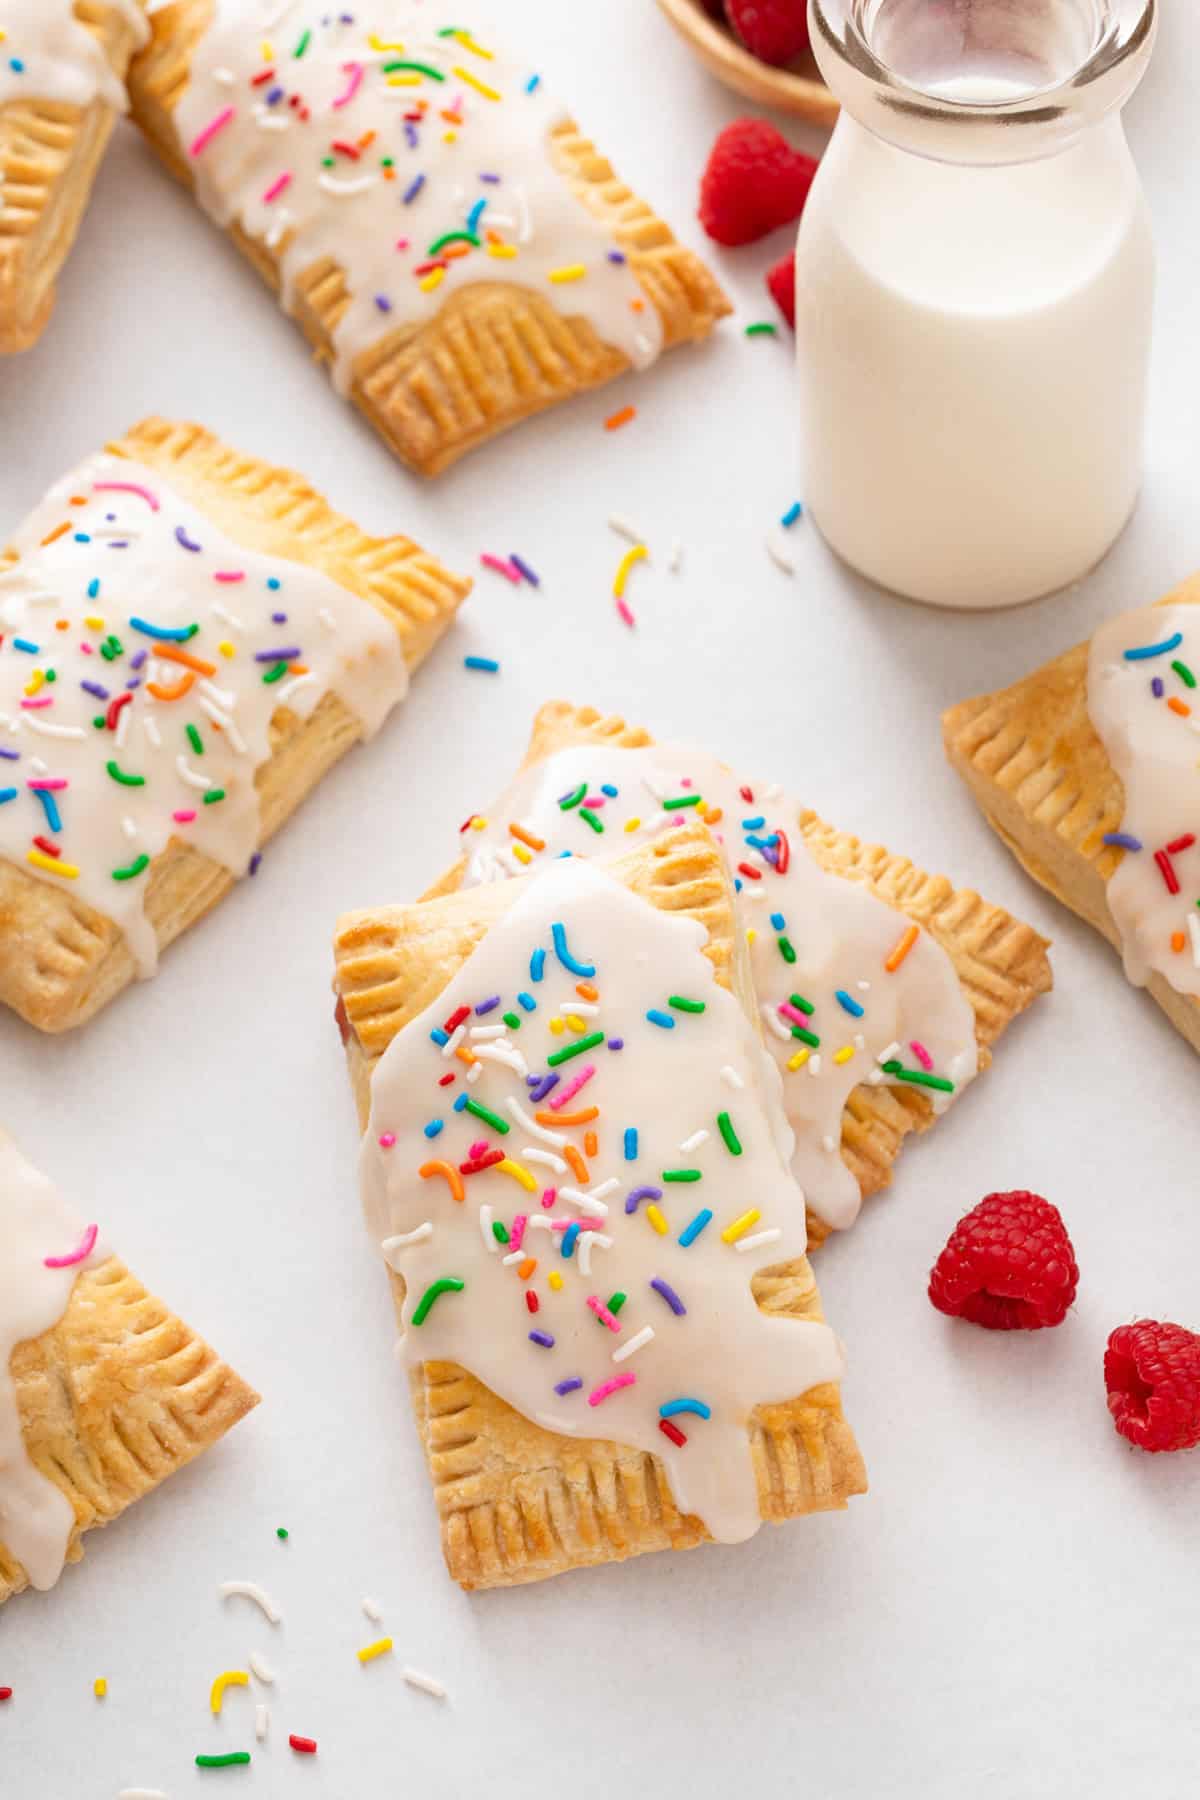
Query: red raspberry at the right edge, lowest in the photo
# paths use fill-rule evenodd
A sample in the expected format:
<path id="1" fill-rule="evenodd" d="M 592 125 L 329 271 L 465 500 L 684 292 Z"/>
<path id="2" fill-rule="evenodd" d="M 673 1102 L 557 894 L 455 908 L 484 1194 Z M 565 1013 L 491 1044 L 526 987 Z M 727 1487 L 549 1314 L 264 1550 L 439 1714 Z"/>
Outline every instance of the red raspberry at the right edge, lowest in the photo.
<path id="1" fill-rule="evenodd" d="M 1108 1411 L 1142 1451 L 1200 1444 L 1200 1337 L 1182 1325 L 1119 1325 L 1105 1350 Z"/>

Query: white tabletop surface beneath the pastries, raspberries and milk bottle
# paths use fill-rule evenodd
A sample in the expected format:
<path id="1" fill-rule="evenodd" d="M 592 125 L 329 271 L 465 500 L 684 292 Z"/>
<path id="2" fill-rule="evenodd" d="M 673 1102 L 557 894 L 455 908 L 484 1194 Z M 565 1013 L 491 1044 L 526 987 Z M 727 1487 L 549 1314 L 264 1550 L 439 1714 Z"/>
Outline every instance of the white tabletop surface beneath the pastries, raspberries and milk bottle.
<path id="1" fill-rule="evenodd" d="M 649 0 L 506 13 L 509 38 L 700 245 L 698 175 L 739 103 Z M 1133 1314 L 1200 1327 L 1196 1066 L 1105 945 L 990 837 L 943 765 L 937 715 L 1200 563 L 1198 54 L 1195 14 L 1169 7 L 1128 113 L 1162 265 L 1141 511 L 1078 592 L 991 617 L 869 590 L 810 526 L 793 535 L 795 580 L 766 560 L 793 497 L 790 346 L 741 326 L 772 317 L 761 272 L 788 232 L 716 256 L 738 317 L 714 344 L 417 486 L 121 130 L 50 329 L 0 365 L 5 526 L 157 410 L 300 464 L 369 527 L 410 531 L 459 569 L 516 549 L 543 590 L 479 574 L 403 713 L 158 981 L 77 1037 L 0 1019 L 5 1123 L 264 1395 L 201 1463 L 92 1537 L 56 1593 L 4 1609 L 5 1800 L 112 1800 L 124 1784 L 173 1800 L 1195 1791 L 1200 1453 L 1126 1449 L 1101 1354 Z M 635 425 L 604 434 L 624 401 Z M 653 549 L 631 581 L 633 635 L 610 599 L 610 511 Z M 466 673 L 468 652 L 498 655 L 502 673 Z M 1058 988 L 905 1152 L 891 1193 L 820 1251 L 871 1494 L 743 1548 L 466 1598 L 443 1571 L 358 1217 L 329 934 L 338 911 L 412 896 L 443 868 L 552 695 L 707 742 L 840 826 L 979 886 L 1056 940 Z M 1038 1188 L 1069 1220 L 1083 1278 L 1061 1330 L 986 1334 L 925 1298 L 955 1217 L 1004 1186 Z M 264 1582 L 282 1627 L 246 1602 L 223 1607 L 228 1577 Z M 398 1651 L 369 1669 L 354 1660 L 376 1634 L 363 1595 Z M 214 1674 L 252 1649 L 281 1670 L 273 1741 L 250 1769 L 203 1775 L 196 1751 L 254 1748 L 248 1696 L 232 1692 L 221 1721 L 207 1708 Z M 448 1705 L 408 1690 L 401 1661 L 441 1676 Z M 288 1732 L 317 1737 L 320 1755 L 297 1759 Z"/>

